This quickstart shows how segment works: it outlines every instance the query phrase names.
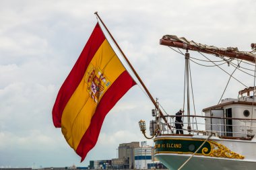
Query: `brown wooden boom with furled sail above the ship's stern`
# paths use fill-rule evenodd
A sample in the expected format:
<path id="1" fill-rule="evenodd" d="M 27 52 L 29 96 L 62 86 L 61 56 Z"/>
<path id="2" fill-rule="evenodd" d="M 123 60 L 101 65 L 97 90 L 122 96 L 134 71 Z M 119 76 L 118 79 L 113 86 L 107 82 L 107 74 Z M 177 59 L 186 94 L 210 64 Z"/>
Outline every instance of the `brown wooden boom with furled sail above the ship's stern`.
<path id="1" fill-rule="evenodd" d="M 160 44 L 164 45 L 164 46 L 173 46 L 173 47 L 177 47 L 177 48 L 183 48 L 185 50 L 194 50 L 194 51 L 204 52 L 207 54 L 228 56 L 230 58 L 238 58 L 241 60 L 255 62 L 255 58 L 253 56 L 249 56 L 247 54 L 238 54 L 236 52 L 226 51 L 226 50 L 204 49 L 204 48 L 193 46 L 191 44 L 186 44 L 184 42 L 180 42 L 177 40 L 167 40 L 167 39 L 162 38 L 162 39 L 160 39 Z"/>

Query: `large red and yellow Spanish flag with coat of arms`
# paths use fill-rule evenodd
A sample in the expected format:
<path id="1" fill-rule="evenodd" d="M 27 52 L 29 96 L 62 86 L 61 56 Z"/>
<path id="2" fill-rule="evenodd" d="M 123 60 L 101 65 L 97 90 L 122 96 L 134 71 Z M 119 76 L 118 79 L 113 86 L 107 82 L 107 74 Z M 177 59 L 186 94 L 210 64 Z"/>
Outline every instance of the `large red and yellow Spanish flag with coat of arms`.
<path id="1" fill-rule="evenodd" d="M 106 114 L 135 84 L 96 24 L 53 106 L 53 124 L 81 161 L 95 146 Z"/>

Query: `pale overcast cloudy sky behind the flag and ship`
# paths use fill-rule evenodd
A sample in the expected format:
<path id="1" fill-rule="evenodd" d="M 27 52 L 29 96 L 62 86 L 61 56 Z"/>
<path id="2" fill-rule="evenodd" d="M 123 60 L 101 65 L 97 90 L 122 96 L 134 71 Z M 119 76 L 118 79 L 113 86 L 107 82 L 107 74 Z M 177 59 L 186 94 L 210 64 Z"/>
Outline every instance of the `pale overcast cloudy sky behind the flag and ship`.
<path id="1" fill-rule="evenodd" d="M 154 105 L 139 86 L 106 116 L 98 142 L 83 163 L 53 126 L 53 103 L 97 22 L 95 11 L 152 95 L 174 114 L 183 105 L 185 61 L 160 46 L 159 39 L 174 34 L 251 50 L 256 42 L 255 7 L 254 0 L 0 0 L 0 167 L 84 167 L 90 160 L 116 158 L 119 143 L 145 140 L 137 122 L 148 124 Z M 229 77 L 216 67 L 193 63 L 191 71 L 195 108 L 201 114 L 218 103 Z M 236 76 L 253 86 L 251 77 Z M 243 88 L 231 80 L 224 98 L 237 97 Z"/>

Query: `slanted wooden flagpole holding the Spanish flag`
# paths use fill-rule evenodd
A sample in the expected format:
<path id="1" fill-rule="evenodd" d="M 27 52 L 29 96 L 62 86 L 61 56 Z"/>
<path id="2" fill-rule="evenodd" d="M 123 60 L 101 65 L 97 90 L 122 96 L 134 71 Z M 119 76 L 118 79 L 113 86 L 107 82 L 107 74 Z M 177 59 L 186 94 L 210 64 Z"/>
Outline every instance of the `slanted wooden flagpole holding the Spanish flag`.
<path id="1" fill-rule="evenodd" d="M 98 15 L 98 12 L 96 11 L 94 13 L 95 15 L 97 15 L 98 19 L 100 19 L 100 22 L 102 23 L 102 25 L 104 26 L 104 28 L 106 29 L 106 31 L 108 32 L 109 36 L 112 38 L 113 42 L 115 42 L 115 45 L 117 46 L 117 48 L 119 49 L 119 51 L 121 52 L 121 54 L 123 55 L 123 57 L 125 58 L 127 64 L 129 65 L 129 67 L 131 67 L 131 70 L 133 71 L 133 73 L 135 74 L 135 76 L 137 77 L 137 79 L 139 80 L 139 83 L 141 83 L 143 89 L 145 89 L 146 93 L 148 94 L 148 96 L 150 97 L 152 103 L 155 105 L 155 107 L 159 110 L 159 113 L 161 115 L 161 117 L 164 119 L 164 122 L 166 122 L 168 128 L 170 128 L 170 124 L 168 124 L 166 118 L 164 117 L 164 114 L 162 114 L 162 111 L 160 110 L 160 108 L 158 107 L 158 104 L 156 103 L 156 101 L 154 100 L 154 98 L 152 97 L 150 91 L 148 91 L 146 85 L 143 83 L 143 81 L 141 80 L 141 78 L 139 77 L 139 75 L 137 74 L 137 72 L 135 71 L 135 69 L 133 68 L 133 66 L 131 65 L 131 62 L 129 62 L 128 58 L 125 56 L 125 53 L 123 52 L 123 50 L 120 48 L 119 44 L 117 44 L 115 38 L 112 36 L 112 34 L 108 31 L 108 28 L 106 28 L 106 25 L 104 24 L 104 22 L 102 21 L 102 19 L 100 18 L 100 16 Z"/>

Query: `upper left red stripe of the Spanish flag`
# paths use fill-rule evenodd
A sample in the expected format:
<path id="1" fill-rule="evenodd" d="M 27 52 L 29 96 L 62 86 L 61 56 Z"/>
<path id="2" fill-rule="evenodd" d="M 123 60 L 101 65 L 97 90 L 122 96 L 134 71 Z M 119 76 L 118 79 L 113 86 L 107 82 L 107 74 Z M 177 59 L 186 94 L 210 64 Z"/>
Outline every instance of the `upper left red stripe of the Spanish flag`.
<path id="1" fill-rule="evenodd" d="M 73 95 L 73 92 L 82 81 L 88 65 L 104 40 L 105 36 L 97 23 L 84 50 L 82 50 L 82 53 L 77 59 L 77 62 L 75 62 L 73 69 L 65 79 L 57 95 L 55 105 L 53 106 L 53 124 L 56 128 L 61 128 L 61 116 L 65 105 L 67 105 L 71 95 Z"/>

